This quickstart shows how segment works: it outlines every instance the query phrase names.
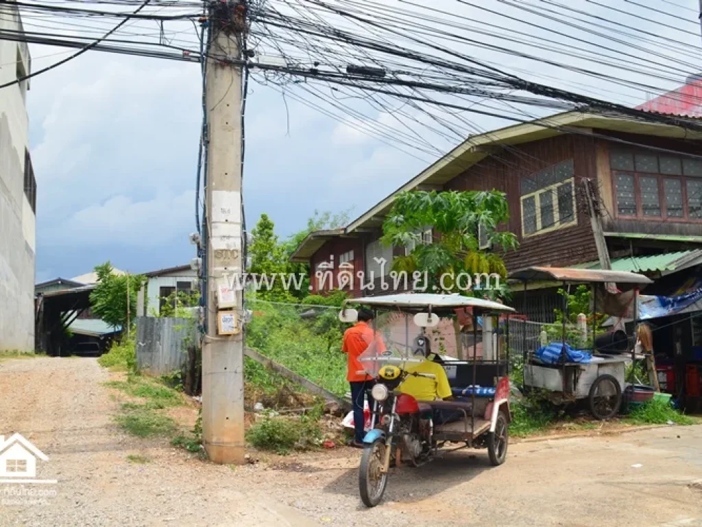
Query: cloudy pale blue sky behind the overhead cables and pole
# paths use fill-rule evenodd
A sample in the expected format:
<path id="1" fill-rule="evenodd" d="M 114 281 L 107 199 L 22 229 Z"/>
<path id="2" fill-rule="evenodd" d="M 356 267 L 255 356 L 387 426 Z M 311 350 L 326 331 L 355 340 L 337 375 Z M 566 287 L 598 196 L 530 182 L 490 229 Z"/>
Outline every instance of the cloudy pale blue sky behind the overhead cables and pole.
<path id="1" fill-rule="evenodd" d="M 496 0 L 481 1 L 496 5 Z M 653 0 L 647 3 L 661 5 Z M 667 4 L 668 8 L 694 20 L 695 0 L 676 3 L 685 8 Z M 593 13 L 603 12 L 587 0 L 579 4 Z M 456 10 L 456 5 L 437 0 L 437 7 Z M 498 21 L 495 15 L 465 12 Z M 505 27 L 518 25 L 510 20 L 499 22 Z M 663 34 L 669 31 L 651 29 Z M 689 25 L 689 29 L 695 28 Z M 691 32 L 676 38 L 691 45 L 699 41 Z M 30 49 L 34 70 L 71 53 L 46 46 Z M 472 52 L 502 65 L 529 68 L 490 51 Z M 562 83 L 583 82 L 555 67 L 543 66 L 539 74 Z M 680 84 L 682 79 L 681 74 Z M 27 111 L 38 186 L 38 282 L 72 278 L 107 260 L 135 273 L 190 261 L 194 256 L 188 235 L 195 230 L 200 82 L 195 63 L 99 52 L 86 53 L 32 79 Z M 593 84 L 592 79 L 587 82 L 592 84 L 591 93 L 606 93 L 607 86 Z M 618 93 L 623 91 L 629 103 L 645 97 L 642 91 L 618 88 Z M 368 112 L 378 122 L 396 126 L 392 110 Z M 486 117 L 470 119 L 479 129 L 499 124 Z M 252 82 L 244 169 L 249 228 L 263 213 L 272 218 L 282 238 L 304 228 L 314 210 L 350 211 L 354 218 L 437 157 L 398 150 L 359 133 L 353 125 L 350 116 L 346 122 L 331 119 L 282 95 L 277 86 Z M 444 138 L 428 136 L 437 152 L 446 152 L 452 145 Z"/>

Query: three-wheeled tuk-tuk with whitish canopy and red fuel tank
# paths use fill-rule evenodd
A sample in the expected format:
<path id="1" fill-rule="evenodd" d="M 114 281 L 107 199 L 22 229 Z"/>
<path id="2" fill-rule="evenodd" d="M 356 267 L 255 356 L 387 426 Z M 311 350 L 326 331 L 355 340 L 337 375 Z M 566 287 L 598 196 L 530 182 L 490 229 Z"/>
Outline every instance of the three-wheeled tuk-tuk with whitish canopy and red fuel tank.
<path id="1" fill-rule="evenodd" d="M 392 294 L 347 300 L 339 315 L 343 322 L 356 320 L 350 304 L 375 313 L 375 338 L 359 356 L 359 373 L 376 382 L 359 467 L 364 504 L 378 505 L 390 467 L 418 467 L 448 443 L 458 444 L 453 450 L 486 448 L 491 464 L 502 464 L 509 442 L 510 382 L 508 343 L 499 324 L 514 310 L 458 294 Z M 435 366 L 425 367 L 425 361 Z M 412 377 L 448 380 L 451 397 L 418 401 L 403 392 Z"/>

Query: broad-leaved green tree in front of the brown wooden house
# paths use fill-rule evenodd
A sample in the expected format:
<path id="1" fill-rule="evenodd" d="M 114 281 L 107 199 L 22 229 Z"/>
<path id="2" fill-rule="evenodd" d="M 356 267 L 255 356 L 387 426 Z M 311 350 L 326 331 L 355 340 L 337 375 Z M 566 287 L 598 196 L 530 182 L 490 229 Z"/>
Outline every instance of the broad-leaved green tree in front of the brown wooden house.
<path id="1" fill-rule="evenodd" d="M 411 252 L 392 262 L 394 271 L 425 271 L 430 291 L 458 292 L 452 280 L 443 287 L 445 273 L 497 273 L 505 277 L 507 270 L 499 254 L 478 249 L 478 228 L 482 226 L 492 245 L 503 251 L 517 247 L 513 233 L 498 231 L 509 219 L 505 193 L 485 191 L 411 191 L 397 195 L 390 214 L 383 223 L 383 241 L 394 247 L 407 247 Z M 421 233 L 432 228 L 431 243 L 423 243 Z M 473 285 L 475 287 L 475 284 Z M 486 291 L 491 297 L 505 294 Z M 464 292 L 465 293 L 465 292 Z"/>

